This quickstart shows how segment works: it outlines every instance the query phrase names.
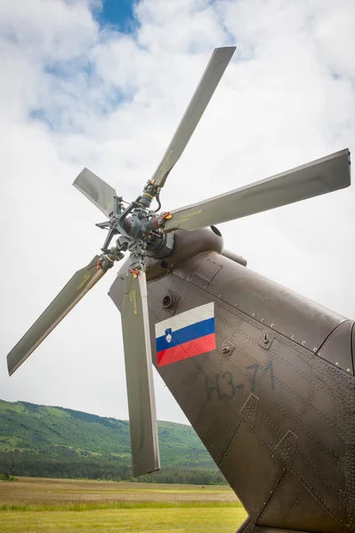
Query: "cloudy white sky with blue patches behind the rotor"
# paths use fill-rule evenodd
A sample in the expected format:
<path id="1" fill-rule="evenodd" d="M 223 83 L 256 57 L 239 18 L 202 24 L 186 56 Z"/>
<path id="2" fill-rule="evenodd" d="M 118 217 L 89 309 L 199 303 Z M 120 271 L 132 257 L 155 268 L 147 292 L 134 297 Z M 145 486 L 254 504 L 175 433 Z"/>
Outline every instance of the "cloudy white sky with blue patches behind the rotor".
<path id="1" fill-rule="evenodd" d="M 165 186 L 165 210 L 349 147 L 353 0 L 0 3 L 0 398 L 127 418 L 112 269 L 9 378 L 6 354 L 100 250 L 89 169 L 132 200 L 214 47 L 238 51 Z M 183 191 L 183 192 L 182 192 Z M 355 192 L 222 224 L 255 271 L 355 317 Z M 158 418 L 185 422 L 157 372 Z"/>

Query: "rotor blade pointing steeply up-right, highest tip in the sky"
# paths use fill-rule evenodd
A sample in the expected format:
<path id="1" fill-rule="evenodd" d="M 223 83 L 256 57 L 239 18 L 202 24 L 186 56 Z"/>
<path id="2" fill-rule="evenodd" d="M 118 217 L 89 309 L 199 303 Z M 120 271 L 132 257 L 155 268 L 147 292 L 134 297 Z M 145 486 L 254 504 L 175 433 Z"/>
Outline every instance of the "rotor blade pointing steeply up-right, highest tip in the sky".
<path id="1" fill-rule="evenodd" d="M 175 131 L 163 159 L 153 174 L 152 180 L 155 179 L 157 187 L 164 186 L 173 165 L 180 159 L 235 50 L 235 46 L 216 48 L 214 50 L 198 88 L 185 111 L 185 115 L 182 116 L 182 122 Z"/>

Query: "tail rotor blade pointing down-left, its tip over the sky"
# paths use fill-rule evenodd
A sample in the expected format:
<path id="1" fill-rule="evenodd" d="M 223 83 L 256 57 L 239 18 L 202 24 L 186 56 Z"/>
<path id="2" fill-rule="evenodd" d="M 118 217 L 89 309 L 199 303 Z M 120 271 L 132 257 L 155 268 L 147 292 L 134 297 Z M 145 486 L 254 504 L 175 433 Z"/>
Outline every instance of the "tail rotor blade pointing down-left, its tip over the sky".
<path id="1" fill-rule="evenodd" d="M 61 322 L 77 302 L 93 288 L 105 270 L 98 270 L 99 256 L 95 256 L 87 267 L 78 270 L 65 285 L 44 313 L 29 328 L 28 332 L 20 339 L 12 351 L 7 355 L 7 366 L 10 376 L 17 370 L 36 347 L 39 346 L 52 330 Z"/>

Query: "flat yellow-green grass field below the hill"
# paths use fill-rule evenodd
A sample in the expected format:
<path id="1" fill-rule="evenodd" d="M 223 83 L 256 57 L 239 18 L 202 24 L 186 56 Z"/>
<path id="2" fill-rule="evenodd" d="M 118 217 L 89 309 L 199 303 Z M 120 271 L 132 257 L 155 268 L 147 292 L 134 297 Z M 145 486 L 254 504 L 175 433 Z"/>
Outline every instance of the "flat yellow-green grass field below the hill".
<path id="1" fill-rule="evenodd" d="M 6 533 L 235 533 L 245 518 L 226 486 L 0 481 L 0 531 Z"/>

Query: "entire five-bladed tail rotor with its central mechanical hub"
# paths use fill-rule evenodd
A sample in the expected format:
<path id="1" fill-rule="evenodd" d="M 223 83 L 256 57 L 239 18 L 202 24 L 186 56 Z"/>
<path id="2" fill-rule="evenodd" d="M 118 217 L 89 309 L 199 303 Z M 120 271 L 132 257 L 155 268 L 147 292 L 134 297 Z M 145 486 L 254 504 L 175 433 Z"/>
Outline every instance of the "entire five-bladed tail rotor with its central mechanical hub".
<path id="1" fill-rule="evenodd" d="M 136 200 L 125 203 L 113 187 L 88 169 L 77 176 L 73 185 L 107 217 L 106 221 L 97 224 L 108 230 L 101 254 L 74 274 L 7 356 L 9 372 L 12 374 L 109 268 L 129 254 L 122 326 L 135 476 L 157 470 L 160 465 L 149 338 L 147 258 L 163 259 L 174 253 L 174 242 L 178 240 L 177 235 L 176 238 L 173 236 L 174 230 L 190 232 L 213 227 L 216 237 L 219 231 L 214 224 L 350 185 L 349 150 L 345 149 L 224 195 L 175 211 L 160 211 L 160 194 L 165 181 L 187 146 L 234 52 L 234 46 L 214 50 L 162 161 Z M 156 211 L 151 209 L 153 201 L 157 202 Z M 116 244 L 110 247 L 115 236 Z M 169 307 L 173 302 L 166 299 L 164 305 Z"/>

